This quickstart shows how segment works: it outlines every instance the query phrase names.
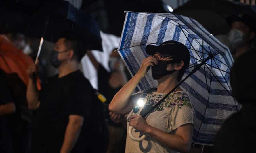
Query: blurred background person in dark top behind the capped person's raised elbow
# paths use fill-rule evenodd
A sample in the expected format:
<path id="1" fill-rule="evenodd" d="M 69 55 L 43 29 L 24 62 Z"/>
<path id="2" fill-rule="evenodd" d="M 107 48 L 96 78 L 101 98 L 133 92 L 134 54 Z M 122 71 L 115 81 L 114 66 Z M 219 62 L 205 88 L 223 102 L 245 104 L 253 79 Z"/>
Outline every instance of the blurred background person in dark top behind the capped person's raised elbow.
<path id="1" fill-rule="evenodd" d="M 92 52 L 89 50 L 87 51 L 87 55 L 93 66 L 97 70 L 98 74 L 98 90 L 102 93 L 109 103 L 114 95 L 127 83 L 127 73 L 125 72 L 126 68 L 125 65 L 119 56 L 118 52 L 116 51 L 117 48 L 112 50 L 109 59 L 109 67 L 111 69 L 108 72 L 93 56 Z M 107 109 L 108 110 L 108 109 Z M 108 111 L 106 112 L 105 116 L 108 120 L 108 131 L 109 131 L 109 141 L 108 141 L 108 150 L 107 153 L 113 152 L 114 147 L 117 146 L 122 138 L 125 135 L 125 129 L 123 128 L 122 121 L 125 121 L 125 118 L 121 115 L 117 115 L 117 120 L 120 118 L 122 121 L 116 121 L 111 119 L 111 112 L 108 115 Z M 126 123 L 126 121 L 125 121 Z M 126 125 L 125 125 L 126 126 Z M 124 142 L 125 144 L 125 142 Z"/>

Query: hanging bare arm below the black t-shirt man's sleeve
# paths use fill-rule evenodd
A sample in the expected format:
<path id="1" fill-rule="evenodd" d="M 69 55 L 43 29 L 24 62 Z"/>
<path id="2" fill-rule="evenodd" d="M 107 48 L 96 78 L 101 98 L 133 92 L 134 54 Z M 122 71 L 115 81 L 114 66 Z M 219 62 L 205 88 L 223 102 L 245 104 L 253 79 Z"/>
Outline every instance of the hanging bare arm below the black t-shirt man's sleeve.
<path id="1" fill-rule="evenodd" d="M 60 153 L 69 153 L 77 142 L 84 118 L 80 115 L 70 115 L 68 125 L 66 127 L 64 142 Z"/>

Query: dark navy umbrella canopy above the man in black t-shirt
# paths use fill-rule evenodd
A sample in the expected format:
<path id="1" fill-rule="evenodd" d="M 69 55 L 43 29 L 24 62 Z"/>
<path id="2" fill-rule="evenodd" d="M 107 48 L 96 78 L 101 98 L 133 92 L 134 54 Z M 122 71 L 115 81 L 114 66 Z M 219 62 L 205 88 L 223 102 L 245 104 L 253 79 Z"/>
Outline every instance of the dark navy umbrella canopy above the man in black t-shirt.
<path id="1" fill-rule="evenodd" d="M 26 34 L 56 42 L 62 32 L 75 34 L 87 49 L 102 51 L 100 29 L 94 19 L 68 1 L 44 3 L 27 26 Z"/>

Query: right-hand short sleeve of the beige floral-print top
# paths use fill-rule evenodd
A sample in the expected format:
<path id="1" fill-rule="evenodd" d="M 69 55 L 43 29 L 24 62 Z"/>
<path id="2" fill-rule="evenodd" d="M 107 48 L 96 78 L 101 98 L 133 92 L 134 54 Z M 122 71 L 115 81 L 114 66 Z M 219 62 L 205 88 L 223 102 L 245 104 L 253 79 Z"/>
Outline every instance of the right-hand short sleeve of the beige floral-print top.
<path id="1" fill-rule="evenodd" d="M 175 93 L 171 103 L 171 126 L 175 130 L 188 123 L 193 124 L 193 110 L 188 95 L 184 92 Z"/>

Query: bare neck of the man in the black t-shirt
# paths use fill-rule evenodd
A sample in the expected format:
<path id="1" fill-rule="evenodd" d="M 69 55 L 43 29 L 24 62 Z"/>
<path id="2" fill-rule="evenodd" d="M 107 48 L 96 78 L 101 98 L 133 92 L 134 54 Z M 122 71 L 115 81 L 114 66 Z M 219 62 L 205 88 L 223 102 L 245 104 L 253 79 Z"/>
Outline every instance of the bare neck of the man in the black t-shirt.
<path id="1" fill-rule="evenodd" d="M 65 61 L 58 68 L 59 78 L 79 70 L 79 64 L 76 61 Z"/>

